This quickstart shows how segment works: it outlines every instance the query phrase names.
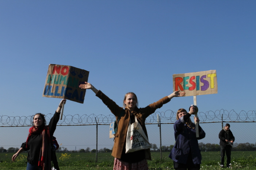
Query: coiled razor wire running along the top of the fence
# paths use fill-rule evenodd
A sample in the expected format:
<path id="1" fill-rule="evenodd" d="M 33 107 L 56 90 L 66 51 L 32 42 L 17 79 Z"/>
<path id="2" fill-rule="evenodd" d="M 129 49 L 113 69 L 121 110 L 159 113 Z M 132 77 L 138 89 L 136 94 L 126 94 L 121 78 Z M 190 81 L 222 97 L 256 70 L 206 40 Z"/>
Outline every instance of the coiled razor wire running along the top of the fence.
<path id="1" fill-rule="evenodd" d="M 176 121 L 176 112 L 166 110 L 165 112 L 155 112 L 146 118 L 145 123 L 157 123 L 157 115 L 159 115 L 161 123 L 171 123 Z M 49 123 L 53 114 L 45 115 L 46 122 Z M 31 116 L 0 116 L 0 126 L 31 126 L 34 115 Z M 200 122 L 216 122 L 216 121 L 256 121 L 256 111 L 227 111 L 224 109 L 216 111 L 198 112 Z M 62 120 L 58 121 L 58 125 L 74 125 L 74 124 L 94 124 L 103 123 L 110 124 L 115 121 L 114 115 L 63 115 Z"/>

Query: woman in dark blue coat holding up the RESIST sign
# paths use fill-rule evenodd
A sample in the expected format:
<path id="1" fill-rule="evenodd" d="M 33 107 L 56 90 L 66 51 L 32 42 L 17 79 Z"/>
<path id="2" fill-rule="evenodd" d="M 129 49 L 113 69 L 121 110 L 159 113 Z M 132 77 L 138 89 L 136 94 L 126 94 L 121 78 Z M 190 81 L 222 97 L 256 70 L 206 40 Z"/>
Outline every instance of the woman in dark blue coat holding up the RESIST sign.
<path id="1" fill-rule="evenodd" d="M 195 124 L 191 122 L 190 116 L 196 114 L 198 108 L 192 105 L 188 110 L 180 108 L 173 125 L 176 142 L 169 157 L 173 160 L 175 170 L 199 170 L 202 160 L 198 139 L 203 139 L 205 132 L 198 124 L 199 138 L 196 138 Z M 199 122 L 198 118 L 194 119 Z"/>

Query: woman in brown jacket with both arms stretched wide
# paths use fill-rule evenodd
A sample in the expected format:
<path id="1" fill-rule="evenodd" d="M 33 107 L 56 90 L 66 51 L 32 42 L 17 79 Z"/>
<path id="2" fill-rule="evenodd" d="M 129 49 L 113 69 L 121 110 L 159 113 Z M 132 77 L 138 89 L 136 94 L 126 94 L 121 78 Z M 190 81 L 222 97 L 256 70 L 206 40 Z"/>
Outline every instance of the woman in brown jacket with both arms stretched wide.
<path id="1" fill-rule="evenodd" d="M 81 84 L 80 88 L 91 89 L 95 92 L 104 104 L 110 109 L 110 111 L 116 116 L 116 120 L 120 119 L 118 122 L 118 131 L 115 134 L 114 147 L 112 151 L 112 156 L 115 157 L 114 160 L 114 170 L 148 170 L 148 163 L 146 159 L 151 160 L 150 149 L 142 149 L 134 152 L 127 152 L 126 147 L 126 137 L 127 130 L 130 124 L 137 122 L 142 127 L 143 133 L 148 137 L 145 119 L 157 108 L 163 106 L 163 104 L 168 103 L 173 97 L 183 96 L 184 92 L 175 91 L 169 96 L 158 100 L 155 103 L 149 104 L 149 106 L 144 108 L 138 108 L 137 96 L 133 92 L 129 92 L 125 95 L 123 100 L 123 107 L 119 107 L 113 100 L 108 98 L 103 92 L 98 91 L 92 84 L 85 82 Z M 134 137 L 131 136 L 131 138 Z M 147 140 L 147 139 L 146 139 Z M 141 143 L 135 143 L 134 147 Z"/>

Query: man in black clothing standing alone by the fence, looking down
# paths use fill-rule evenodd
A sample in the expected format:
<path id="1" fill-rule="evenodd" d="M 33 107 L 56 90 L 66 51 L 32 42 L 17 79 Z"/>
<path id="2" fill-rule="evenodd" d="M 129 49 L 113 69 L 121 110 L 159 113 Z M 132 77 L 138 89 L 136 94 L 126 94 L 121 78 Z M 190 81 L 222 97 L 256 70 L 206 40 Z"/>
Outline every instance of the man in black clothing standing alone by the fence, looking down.
<path id="1" fill-rule="evenodd" d="M 229 128 L 230 124 L 227 123 L 226 126 L 224 126 L 219 132 L 219 145 L 221 146 L 221 167 L 224 167 L 225 152 L 227 155 L 227 167 L 229 167 L 231 161 L 231 149 L 233 142 L 235 141 L 235 137 Z"/>

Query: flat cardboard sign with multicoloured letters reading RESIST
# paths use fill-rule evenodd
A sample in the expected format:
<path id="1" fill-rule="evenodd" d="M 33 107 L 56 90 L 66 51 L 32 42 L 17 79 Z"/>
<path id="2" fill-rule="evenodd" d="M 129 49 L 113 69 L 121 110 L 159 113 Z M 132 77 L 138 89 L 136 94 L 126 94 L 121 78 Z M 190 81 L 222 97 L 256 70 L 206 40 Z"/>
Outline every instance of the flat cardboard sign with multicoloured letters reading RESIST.
<path id="1" fill-rule="evenodd" d="M 218 93 L 216 70 L 173 74 L 173 91 L 184 91 L 184 96 Z"/>

